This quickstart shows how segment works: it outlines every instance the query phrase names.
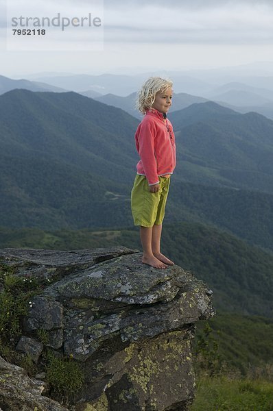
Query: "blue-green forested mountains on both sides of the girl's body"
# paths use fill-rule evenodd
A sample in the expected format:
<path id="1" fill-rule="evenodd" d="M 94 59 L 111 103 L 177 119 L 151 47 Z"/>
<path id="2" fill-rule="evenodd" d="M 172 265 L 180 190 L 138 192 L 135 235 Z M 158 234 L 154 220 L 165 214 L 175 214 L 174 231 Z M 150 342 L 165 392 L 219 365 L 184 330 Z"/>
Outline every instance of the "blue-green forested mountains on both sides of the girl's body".
<path id="1" fill-rule="evenodd" d="M 169 118 L 178 165 L 166 221 L 209 223 L 270 248 L 273 122 L 212 102 Z M 138 124 L 125 111 L 75 92 L 0 96 L 0 225 L 132 225 Z"/>

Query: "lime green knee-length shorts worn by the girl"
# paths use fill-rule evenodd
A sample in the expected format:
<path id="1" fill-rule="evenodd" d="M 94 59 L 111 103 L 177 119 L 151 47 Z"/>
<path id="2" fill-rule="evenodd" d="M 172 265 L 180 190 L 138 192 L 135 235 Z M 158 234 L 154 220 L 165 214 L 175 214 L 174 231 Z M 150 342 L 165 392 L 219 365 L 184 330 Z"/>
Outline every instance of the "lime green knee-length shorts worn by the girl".
<path id="1" fill-rule="evenodd" d="M 137 175 L 131 193 L 131 207 L 134 225 L 152 227 L 162 224 L 169 192 L 170 178 L 158 177 L 160 189 L 150 192 L 145 175 Z"/>

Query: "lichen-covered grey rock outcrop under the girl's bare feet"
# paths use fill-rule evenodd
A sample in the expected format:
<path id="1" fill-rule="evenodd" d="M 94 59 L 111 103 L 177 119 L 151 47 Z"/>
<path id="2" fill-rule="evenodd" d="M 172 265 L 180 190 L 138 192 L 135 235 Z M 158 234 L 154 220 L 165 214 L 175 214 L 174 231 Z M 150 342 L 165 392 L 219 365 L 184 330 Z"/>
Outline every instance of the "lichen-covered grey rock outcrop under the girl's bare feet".
<path id="1" fill-rule="evenodd" d="M 187 410 L 194 323 L 214 312 L 203 282 L 179 266 L 142 264 L 141 254 L 125 247 L 4 249 L 0 261 L 16 275 L 48 280 L 31 301 L 17 349 L 39 362 L 35 335 L 43 329 L 57 356 L 83 364 L 76 411 Z M 0 399 L 3 407 L 1 392 Z"/>

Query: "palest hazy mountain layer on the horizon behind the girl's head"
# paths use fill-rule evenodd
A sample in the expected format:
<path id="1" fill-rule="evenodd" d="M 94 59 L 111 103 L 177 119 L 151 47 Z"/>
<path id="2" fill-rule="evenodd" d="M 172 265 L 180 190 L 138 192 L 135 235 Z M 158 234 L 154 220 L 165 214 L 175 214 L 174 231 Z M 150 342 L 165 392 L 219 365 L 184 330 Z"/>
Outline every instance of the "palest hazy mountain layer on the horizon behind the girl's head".
<path id="1" fill-rule="evenodd" d="M 150 72 L 137 75 L 108 73 L 102 75 L 50 74 L 36 76 L 35 80 L 76 92 L 94 90 L 103 95 L 110 93 L 126 97 L 132 92 L 139 90 L 147 77 L 162 75 L 173 80 L 176 93 L 184 92 L 214 100 L 214 96 L 222 95 L 223 92 L 238 90 L 252 92 L 261 97 L 272 99 L 272 97 L 269 97 L 270 93 L 272 96 L 273 92 L 272 70 L 268 70 L 267 75 L 254 75 L 253 73 L 254 71 L 246 71 L 244 73 L 244 70 L 237 71 L 236 73 L 236 70 L 233 71 L 227 68 L 226 70 L 167 71 L 159 74 Z M 265 90 L 266 94 L 264 94 Z"/>

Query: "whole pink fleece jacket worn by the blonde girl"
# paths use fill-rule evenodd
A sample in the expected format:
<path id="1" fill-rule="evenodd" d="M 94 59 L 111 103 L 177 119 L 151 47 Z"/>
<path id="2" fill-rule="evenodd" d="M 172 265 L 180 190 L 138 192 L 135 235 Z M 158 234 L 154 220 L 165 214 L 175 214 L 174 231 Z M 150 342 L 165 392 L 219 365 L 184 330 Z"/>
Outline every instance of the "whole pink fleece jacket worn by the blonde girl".
<path id="1" fill-rule="evenodd" d="M 134 136 L 141 160 L 137 174 L 145 175 L 149 186 L 159 183 L 158 176 L 172 174 L 176 166 L 176 142 L 171 122 L 163 113 L 146 110 Z"/>

